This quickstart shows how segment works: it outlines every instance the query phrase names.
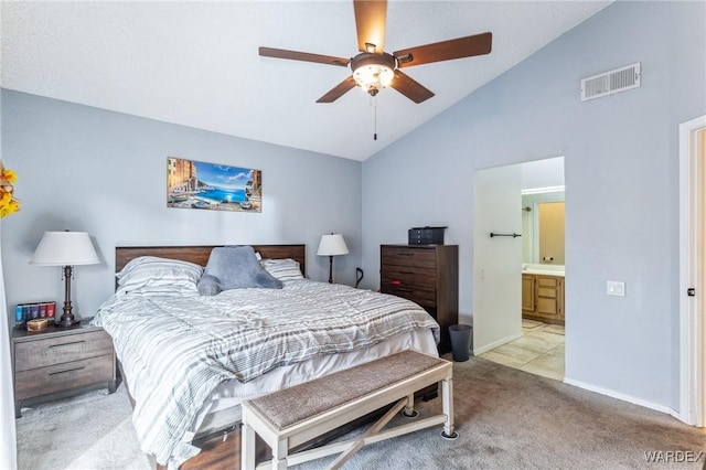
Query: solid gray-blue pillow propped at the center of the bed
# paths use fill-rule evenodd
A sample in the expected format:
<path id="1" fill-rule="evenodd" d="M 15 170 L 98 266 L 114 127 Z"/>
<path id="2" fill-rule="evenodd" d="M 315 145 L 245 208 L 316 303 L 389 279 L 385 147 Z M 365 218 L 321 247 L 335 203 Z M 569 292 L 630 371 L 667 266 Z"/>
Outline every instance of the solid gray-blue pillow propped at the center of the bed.
<path id="1" fill-rule="evenodd" d="M 248 287 L 260 287 L 265 289 L 282 288 L 282 282 L 263 268 L 252 246 L 224 246 L 213 248 L 208 257 L 208 263 L 206 264 L 206 269 L 203 271 L 202 279 L 203 278 L 205 278 L 203 281 L 203 292 L 215 291 L 214 282 L 217 284 L 218 292 L 221 290 L 245 289 Z M 201 281 L 199 284 L 199 291 L 202 292 Z"/>

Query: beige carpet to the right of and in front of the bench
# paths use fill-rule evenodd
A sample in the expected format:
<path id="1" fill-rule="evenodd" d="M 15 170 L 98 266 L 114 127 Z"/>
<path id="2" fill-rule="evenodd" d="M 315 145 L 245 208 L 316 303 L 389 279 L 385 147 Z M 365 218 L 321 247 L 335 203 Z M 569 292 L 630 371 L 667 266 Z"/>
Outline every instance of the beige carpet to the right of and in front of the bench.
<path id="1" fill-rule="evenodd" d="M 706 431 L 676 419 L 479 357 L 453 363 L 459 439 L 436 428 L 366 446 L 349 469 L 702 469 L 648 463 L 649 451 L 706 451 Z M 420 418 L 439 409 L 420 403 Z M 397 420 L 404 419 L 402 417 Z M 664 455 L 664 453 L 663 453 Z M 296 467 L 323 468 L 333 458 Z"/>

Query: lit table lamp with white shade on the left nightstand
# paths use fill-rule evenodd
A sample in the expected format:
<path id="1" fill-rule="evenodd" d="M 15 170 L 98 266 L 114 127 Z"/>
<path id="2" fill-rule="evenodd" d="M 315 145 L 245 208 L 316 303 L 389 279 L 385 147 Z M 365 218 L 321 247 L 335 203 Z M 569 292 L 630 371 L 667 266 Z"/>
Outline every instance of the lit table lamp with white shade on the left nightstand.
<path id="1" fill-rule="evenodd" d="M 100 260 L 93 247 L 90 236 L 86 232 L 44 232 L 44 236 L 30 259 L 31 265 L 63 266 L 65 280 L 64 314 L 55 320 L 60 327 L 71 327 L 78 323 L 71 305 L 71 278 L 74 266 L 97 265 Z"/>

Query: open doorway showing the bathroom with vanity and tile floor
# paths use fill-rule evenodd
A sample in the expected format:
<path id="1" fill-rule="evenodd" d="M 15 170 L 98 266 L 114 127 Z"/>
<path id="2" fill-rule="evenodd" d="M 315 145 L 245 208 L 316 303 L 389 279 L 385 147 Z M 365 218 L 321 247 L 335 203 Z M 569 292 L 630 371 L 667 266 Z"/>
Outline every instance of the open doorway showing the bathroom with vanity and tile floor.
<path id="1" fill-rule="evenodd" d="M 473 352 L 555 380 L 565 374 L 564 191 L 564 157 L 475 175 Z M 516 202 L 499 207 L 499 192 Z M 522 237 L 489 238 L 501 229 Z"/>

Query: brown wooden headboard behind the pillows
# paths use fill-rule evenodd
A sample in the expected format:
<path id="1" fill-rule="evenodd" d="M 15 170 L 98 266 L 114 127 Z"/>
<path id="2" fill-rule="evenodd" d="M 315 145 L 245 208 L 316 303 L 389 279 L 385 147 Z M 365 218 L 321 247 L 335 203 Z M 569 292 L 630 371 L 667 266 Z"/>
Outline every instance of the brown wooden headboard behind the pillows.
<path id="1" fill-rule="evenodd" d="M 223 245 L 201 246 L 116 246 L 115 271 L 118 273 L 132 258 L 138 256 L 159 256 L 160 258 L 181 259 L 206 266 L 211 250 Z M 263 258 L 292 258 L 299 261 L 301 273 L 307 276 L 307 245 L 250 245 Z"/>

